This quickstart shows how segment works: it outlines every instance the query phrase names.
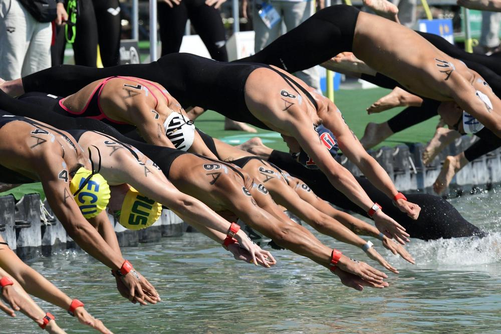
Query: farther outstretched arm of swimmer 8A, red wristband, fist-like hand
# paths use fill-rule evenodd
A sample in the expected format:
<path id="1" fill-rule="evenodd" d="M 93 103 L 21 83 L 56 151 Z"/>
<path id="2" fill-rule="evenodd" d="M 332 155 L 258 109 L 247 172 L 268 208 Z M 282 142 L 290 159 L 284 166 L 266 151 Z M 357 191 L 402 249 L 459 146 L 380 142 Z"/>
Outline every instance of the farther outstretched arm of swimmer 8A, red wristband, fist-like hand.
<path id="1" fill-rule="evenodd" d="M 389 198 L 395 198 L 398 194 L 398 190 L 395 188 L 388 173 L 386 173 L 383 167 L 365 151 L 360 141 L 350 128 L 348 128 L 341 113 L 334 106 L 332 101 L 328 100 L 327 103 L 330 105 L 329 110 L 319 113 L 319 116 L 324 121 L 325 126 L 333 131 L 341 151 L 343 151 L 350 161 L 357 165 L 362 171 L 362 174 L 364 174 L 374 186 L 380 189 Z M 408 202 L 403 198 L 397 199 L 395 205 L 400 211 L 405 212 L 414 220 L 417 219 L 421 211 L 419 205 Z"/>

